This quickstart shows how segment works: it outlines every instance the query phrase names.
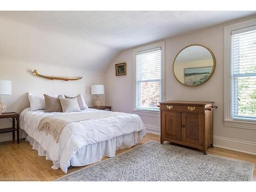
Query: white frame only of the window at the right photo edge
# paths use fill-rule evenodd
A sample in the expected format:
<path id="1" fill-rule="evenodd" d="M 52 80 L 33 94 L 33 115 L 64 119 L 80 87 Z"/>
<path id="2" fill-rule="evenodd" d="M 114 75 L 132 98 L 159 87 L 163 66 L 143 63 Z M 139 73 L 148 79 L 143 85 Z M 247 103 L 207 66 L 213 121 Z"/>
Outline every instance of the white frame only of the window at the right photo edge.
<path id="1" fill-rule="evenodd" d="M 256 19 L 224 27 L 224 126 L 256 130 L 255 121 L 232 117 L 231 33 L 234 30 L 241 30 L 252 26 L 256 26 Z"/>

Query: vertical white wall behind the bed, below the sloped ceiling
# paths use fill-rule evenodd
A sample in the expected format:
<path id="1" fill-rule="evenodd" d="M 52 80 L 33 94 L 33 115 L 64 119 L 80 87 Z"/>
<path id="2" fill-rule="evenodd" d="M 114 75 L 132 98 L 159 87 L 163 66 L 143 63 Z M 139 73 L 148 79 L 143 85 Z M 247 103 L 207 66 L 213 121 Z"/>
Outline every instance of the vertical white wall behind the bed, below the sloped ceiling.
<path id="1" fill-rule="evenodd" d="M 57 76 L 83 76 L 80 80 L 62 81 L 36 77 L 31 71 Z M 93 105 L 91 95 L 92 84 L 105 84 L 105 74 L 68 67 L 44 65 L 44 63 L 28 63 L 18 60 L 4 60 L 0 57 L 0 79 L 12 81 L 12 95 L 1 95 L 7 105 L 7 112 L 20 113 L 29 107 L 28 92 L 32 94 L 79 94 L 82 93 L 86 103 Z M 104 103 L 104 95 L 101 96 Z M 7 119 L 0 119 L 0 129 L 10 127 Z M 0 134 L 0 141 L 10 140 L 11 133 Z"/>

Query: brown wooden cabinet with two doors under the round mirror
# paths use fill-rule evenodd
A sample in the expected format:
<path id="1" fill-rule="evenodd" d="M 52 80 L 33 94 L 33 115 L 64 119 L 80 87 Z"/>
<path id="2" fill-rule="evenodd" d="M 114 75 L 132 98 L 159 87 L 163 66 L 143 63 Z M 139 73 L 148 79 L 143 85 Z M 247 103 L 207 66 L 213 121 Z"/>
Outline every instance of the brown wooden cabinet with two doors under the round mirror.
<path id="1" fill-rule="evenodd" d="M 161 143 L 169 141 L 199 148 L 206 154 L 213 144 L 214 102 L 160 102 Z"/>

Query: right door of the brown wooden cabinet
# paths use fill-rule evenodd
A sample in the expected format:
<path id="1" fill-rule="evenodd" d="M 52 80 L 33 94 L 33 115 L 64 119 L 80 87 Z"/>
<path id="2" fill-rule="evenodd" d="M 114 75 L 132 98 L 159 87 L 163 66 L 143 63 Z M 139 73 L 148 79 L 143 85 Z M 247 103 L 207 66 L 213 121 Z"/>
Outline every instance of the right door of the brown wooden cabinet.
<path id="1" fill-rule="evenodd" d="M 204 114 L 182 113 L 182 141 L 204 145 Z"/>

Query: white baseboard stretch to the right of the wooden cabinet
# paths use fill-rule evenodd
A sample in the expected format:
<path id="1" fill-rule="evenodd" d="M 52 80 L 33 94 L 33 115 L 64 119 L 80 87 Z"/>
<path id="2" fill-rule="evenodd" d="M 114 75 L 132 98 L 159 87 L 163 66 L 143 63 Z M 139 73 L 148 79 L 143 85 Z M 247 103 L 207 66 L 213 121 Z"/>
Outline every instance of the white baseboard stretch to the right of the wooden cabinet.
<path id="1" fill-rule="evenodd" d="M 256 142 L 214 136 L 214 146 L 256 155 Z"/>

